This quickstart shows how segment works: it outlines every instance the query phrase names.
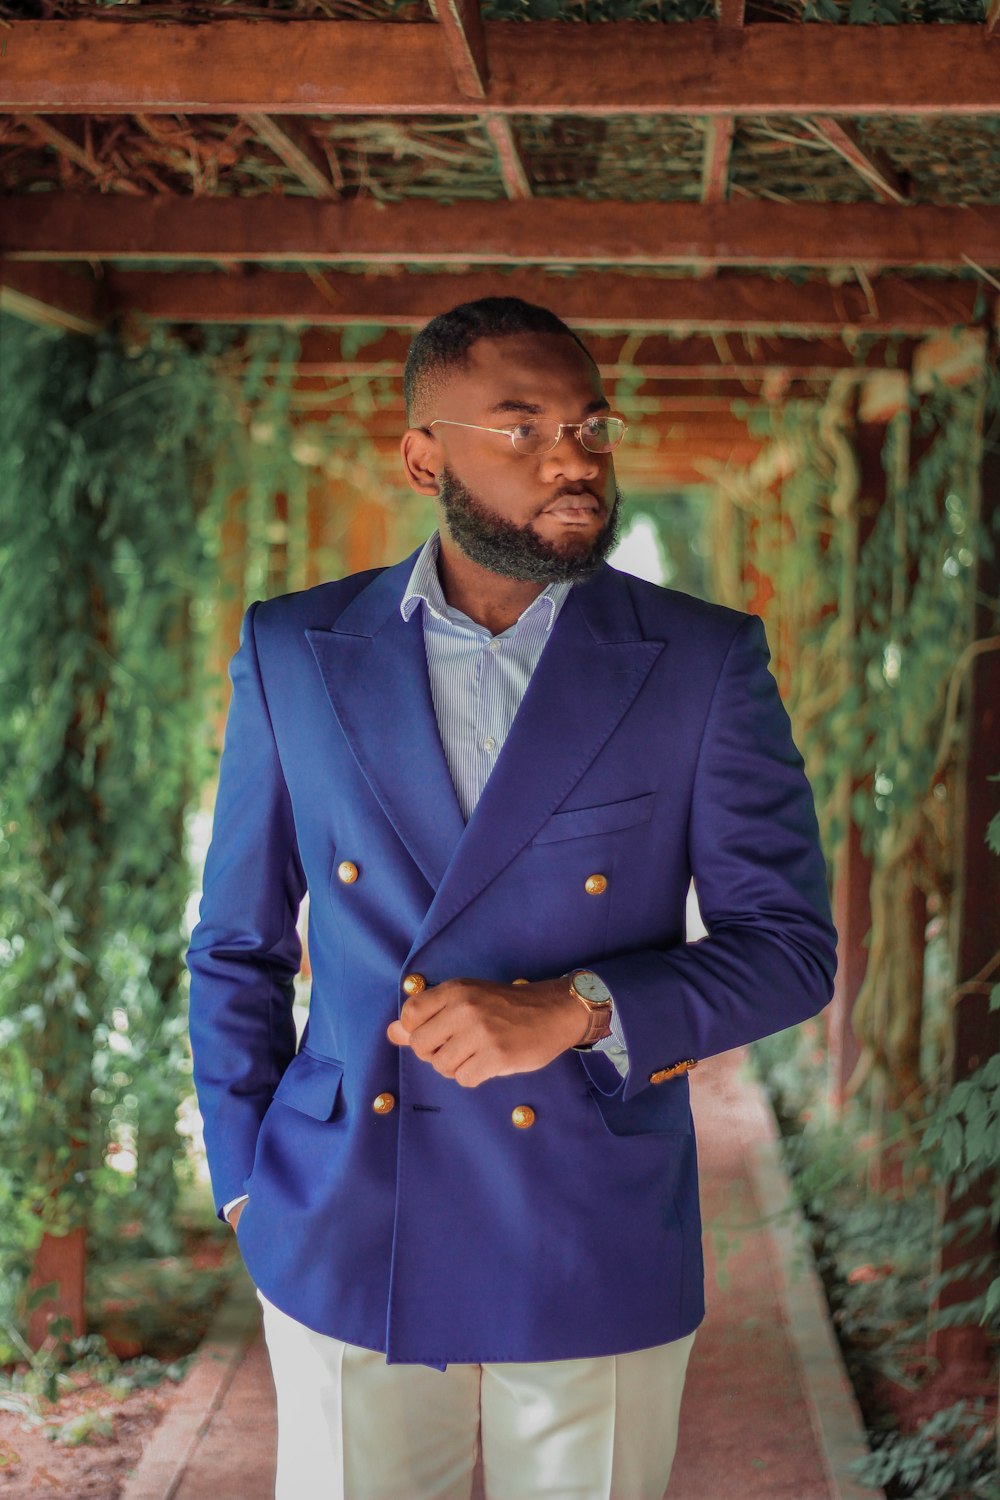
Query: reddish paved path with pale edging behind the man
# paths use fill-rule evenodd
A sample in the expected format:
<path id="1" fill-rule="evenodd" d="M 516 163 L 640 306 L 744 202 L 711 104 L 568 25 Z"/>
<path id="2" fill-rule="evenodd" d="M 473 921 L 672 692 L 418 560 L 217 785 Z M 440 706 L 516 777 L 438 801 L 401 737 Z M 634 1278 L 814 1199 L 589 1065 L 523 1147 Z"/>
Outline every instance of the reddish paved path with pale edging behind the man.
<path id="1" fill-rule="evenodd" d="M 709 1312 L 669 1500 L 871 1500 L 844 1474 L 864 1437 L 814 1276 L 790 1264 L 787 1226 L 760 1222 L 784 1194 L 771 1112 L 739 1053 L 712 1058 L 691 1084 Z M 217 1384 L 186 1461 L 165 1484 L 144 1460 L 123 1500 L 271 1500 L 273 1396 L 259 1335 Z"/>

